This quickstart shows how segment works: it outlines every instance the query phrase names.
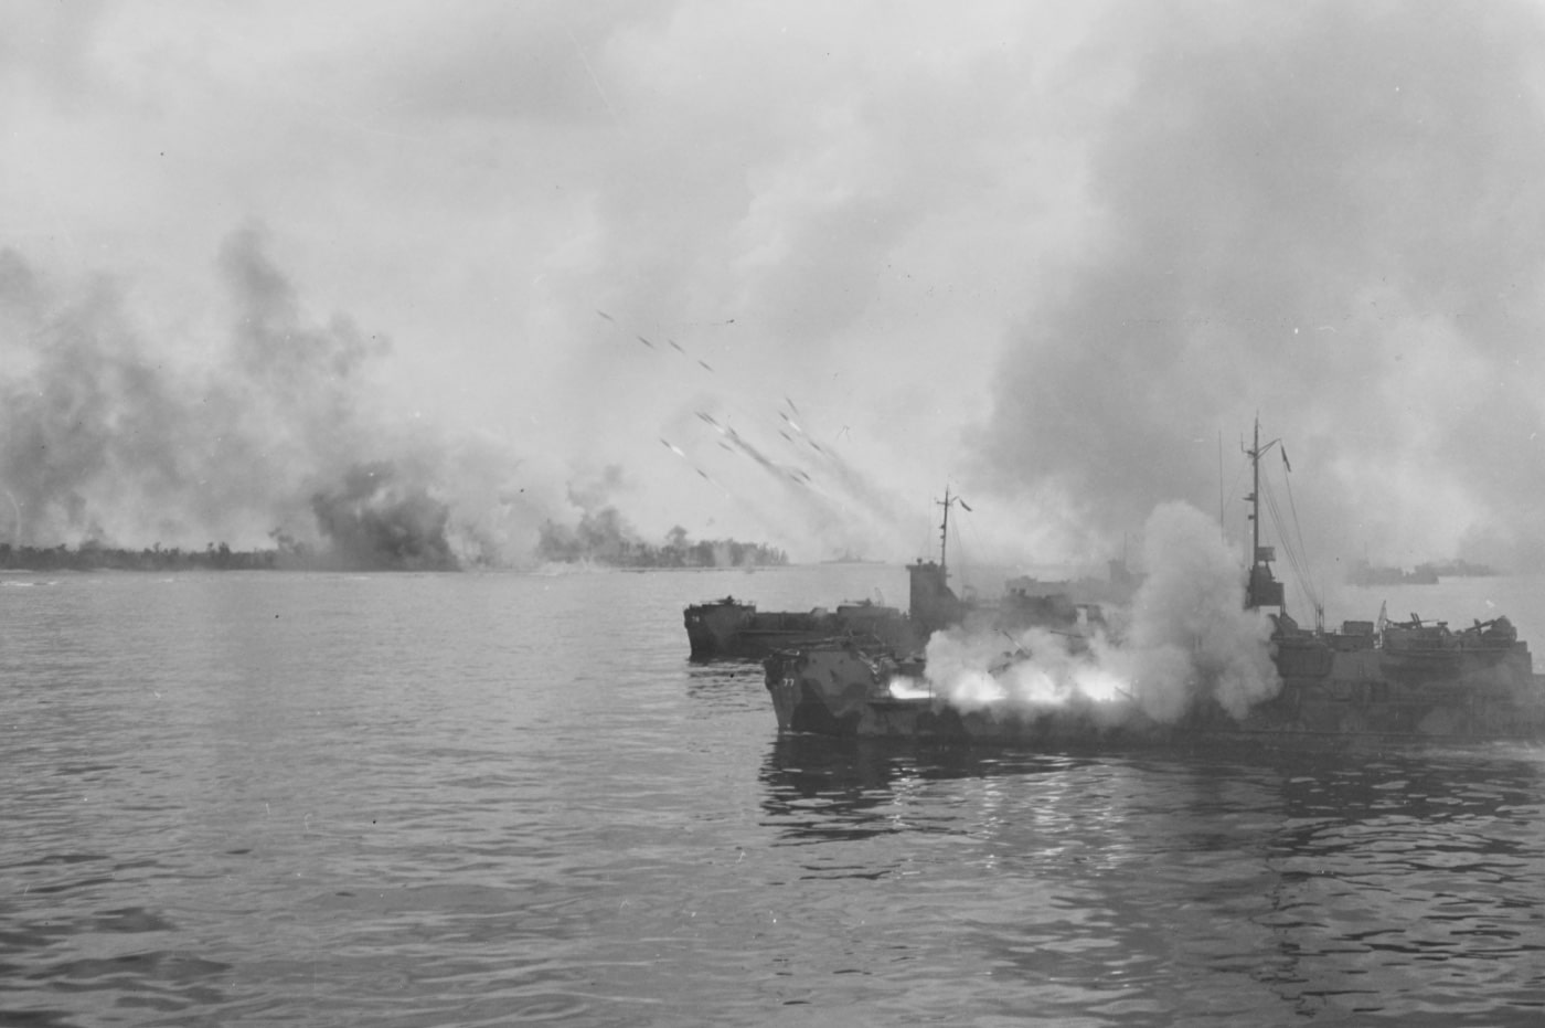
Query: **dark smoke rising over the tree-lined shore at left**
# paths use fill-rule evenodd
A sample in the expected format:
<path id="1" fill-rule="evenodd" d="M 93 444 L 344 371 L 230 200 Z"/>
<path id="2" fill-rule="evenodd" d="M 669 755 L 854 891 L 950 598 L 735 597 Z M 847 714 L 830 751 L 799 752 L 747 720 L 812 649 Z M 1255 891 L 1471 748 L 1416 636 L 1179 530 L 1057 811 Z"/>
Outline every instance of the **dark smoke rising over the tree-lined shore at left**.
<path id="1" fill-rule="evenodd" d="M 519 567 L 544 523 L 578 516 L 556 461 L 382 410 L 389 340 L 309 318 L 261 230 L 232 233 L 218 271 L 229 329 L 150 340 L 113 281 L 57 284 L 0 250 L 0 541 Z"/>

